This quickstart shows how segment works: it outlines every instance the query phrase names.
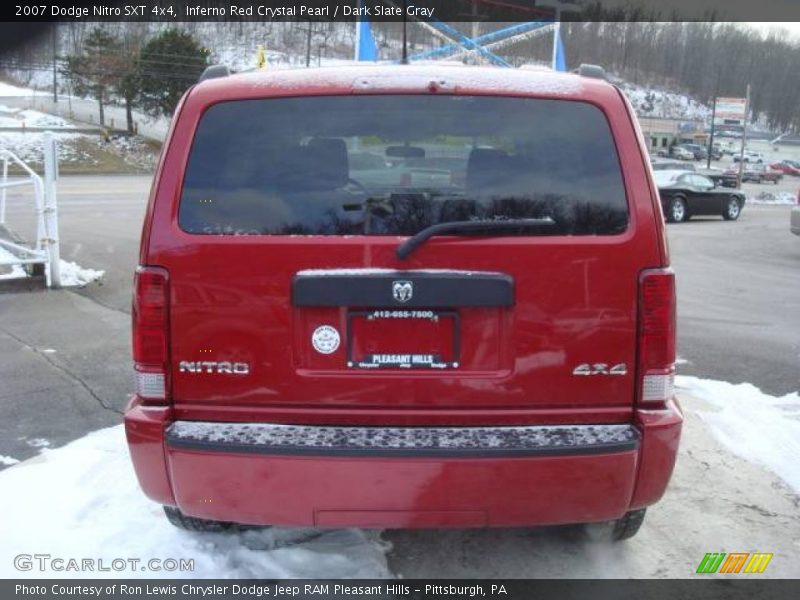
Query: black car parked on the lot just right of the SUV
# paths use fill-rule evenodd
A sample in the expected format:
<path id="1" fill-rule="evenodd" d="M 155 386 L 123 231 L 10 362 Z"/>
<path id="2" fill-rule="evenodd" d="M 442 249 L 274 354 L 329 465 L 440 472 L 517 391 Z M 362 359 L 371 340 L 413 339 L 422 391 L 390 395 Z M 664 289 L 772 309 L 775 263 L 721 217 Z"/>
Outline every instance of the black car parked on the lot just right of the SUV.
<path id="1" fill-rule="evenodd" d="M 735 221 L 742 214 L 745 195 L 723 190 L 704 175 L 658 171 L 655 177 L 661 207 L 670 223 L 680 223 L 700 215 L 720 215 L 726 221 Z"/>

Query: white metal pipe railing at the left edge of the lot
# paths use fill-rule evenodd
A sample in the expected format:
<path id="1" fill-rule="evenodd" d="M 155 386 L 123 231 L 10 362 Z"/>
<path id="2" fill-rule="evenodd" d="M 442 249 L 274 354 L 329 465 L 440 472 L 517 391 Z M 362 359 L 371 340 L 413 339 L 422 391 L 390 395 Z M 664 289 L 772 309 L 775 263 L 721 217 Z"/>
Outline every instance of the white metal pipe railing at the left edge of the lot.
<path id="1" fill-rule="evenodd" d="M 51 132 L 44 135 L 44 177 L 38 175 L 16 154 L 0 148 L 3 162 L 3 177 L 0 179 L 0 225 L 6 223 L 6 200 L 9 188 L 33 186 L 34 210 L 36 212 L 36 240 L 32 247 L 10 240 L 0 239 L 0 247 L 6 248 L 13 258 L 0 261 L 0 265 L 44 265 L 48 287 L 61 287 L 61 252 L 58 238 L 58 202 L 56 181 L 58 159 L 56 141 Z M 9 165 L 17 165 L 25 175 L 10 180 Z"/>

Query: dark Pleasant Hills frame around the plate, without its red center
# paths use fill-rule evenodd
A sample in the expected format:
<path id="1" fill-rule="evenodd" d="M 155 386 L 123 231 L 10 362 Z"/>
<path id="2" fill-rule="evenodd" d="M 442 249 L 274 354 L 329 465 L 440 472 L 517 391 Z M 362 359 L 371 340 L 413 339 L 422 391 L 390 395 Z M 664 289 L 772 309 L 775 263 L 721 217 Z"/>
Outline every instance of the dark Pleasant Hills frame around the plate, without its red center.
<path id="1" fill-rule="evenodd" d="M 407 321 L 435 321 L 451 319 L 452 321 L 452 360 L 442 360 L 439 355 L 429 353 L 409 354 L 370 354 L 359 360 L 353 357 L 355 319 L 369 321 L 380 320 L 407 320 Z M 348 369 L 362 370 L 407 370 L 429 371 L 457 369 L 461 361 L 461 316 L 455 310 L 430 310 L 430 309 L 397 309 L 376 308 L 372 310 L 350 310 L 347 312 L 347 331 L 345 337 L 346 365 Z M 376 360 L 375 357 L 396 357 L 398 360 Z M 407 360 L 400 360 L 407 358 Z"/>

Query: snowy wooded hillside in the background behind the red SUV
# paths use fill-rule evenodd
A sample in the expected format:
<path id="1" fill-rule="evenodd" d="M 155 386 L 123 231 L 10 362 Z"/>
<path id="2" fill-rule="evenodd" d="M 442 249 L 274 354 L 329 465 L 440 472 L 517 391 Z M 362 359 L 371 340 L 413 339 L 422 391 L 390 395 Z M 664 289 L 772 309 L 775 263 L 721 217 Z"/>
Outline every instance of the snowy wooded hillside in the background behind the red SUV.
<path id="1" fill-rule="evenodd" d="M 743 96 L 751 86 L 751 118 L 775 131 L 800 130 L 800 41 L 787 33 L 762 34 L 741 24 L 646 21 L 564 23 L 568 67 L 588 62 L 641 86 L 686 94 L 709 105 L 717 96 Z M 471 23 L 457 23 L 472 33 Z M 503 23 L 480 23 L 479 34 Z M 182 90 L 206 64 L 254 68 L 259 47 L 278 66 L 315 66 L 350 59 L 352 23 L 64 23 L 56 36 L 59 87 L 113 101 L 149 114 L 169 114 Z M 373 24 L 382 59 L 398 59 L 401 23 Z M 0 71 L 24 84 L 52 85 L 50 36 L 0 58 Z M 424 28 L 408 26 L 409 54 L 445 42 Z M 515 65 L 548 63 L 549 34 L 496 52 Z"/>

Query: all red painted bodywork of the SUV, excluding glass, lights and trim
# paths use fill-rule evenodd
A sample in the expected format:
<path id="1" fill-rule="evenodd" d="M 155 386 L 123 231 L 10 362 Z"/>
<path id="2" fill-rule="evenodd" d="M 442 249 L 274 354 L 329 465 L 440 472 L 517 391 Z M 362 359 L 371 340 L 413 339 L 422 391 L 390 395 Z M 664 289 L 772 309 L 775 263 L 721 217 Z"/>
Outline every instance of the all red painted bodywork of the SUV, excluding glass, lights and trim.
<path id="1" fill-rule="evenodd" d="M 426 71 L 386 67 L 269 72 L 210 80 L 184 97 L 159 163 L 140 259 L 170 277 L 171 404 L 134 401 L 125 422 L 145 493 L 195 517 L 292 526 L 467 527 L 601 521 L 657 501 L 680 436 L 673 404 L 639 411 L 639 273 L 668 266 L 658 194 L 635 123 L 611 85 L 552 74 L 539 89 L 521 71 L 439 68 L 451 93 L 586 102 L 605 116 L 629 208 L 628 229 L 608 236 L 436 237 L 400 261 L 392 236 L 193 235 L 178 204 L 202 114 L 226 100 L 308 95 L 424 94 Z M 363 75 L 362 75 L 363 74 Z M 548 77 L 530 74 L 530 77 Z M 420 85 L 416 85 L 417 80 Z M 564 82 L 564 85 L 559 84 Z M 346 308 L 298 308 L 291 284 L 304 269 L 469 269 L 514 280 L 509 308 L 462 308 L 459 369 L 361 371 L 343 367 L 344 344 L 313 352 L 321 324 L 345 330 Z M 440 332 L 441 333 L 441 332 Z M 364 352 L 426 346 L 431 331 L 381 339 Z M 449 344 L 441 334 L 443 352 Z M 429 348 L 428 348 L 429 347 Z M 370 348 L 372 350 L 370 350 Z M 447 358 L 447 357 L 446 357 Z M 246 362 L 246 377 L 181 373 L 185 361 Z M 624 363 L 627 374 L 576 377 L 581 363 Z M 537 458 L 333 458 L 168 449 L 174 420 L 344 425 L 635 423 L 638 450 Z"/>

